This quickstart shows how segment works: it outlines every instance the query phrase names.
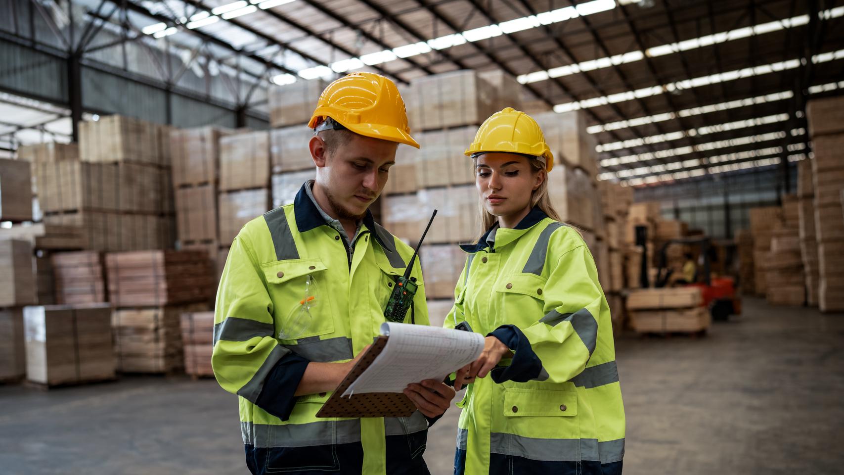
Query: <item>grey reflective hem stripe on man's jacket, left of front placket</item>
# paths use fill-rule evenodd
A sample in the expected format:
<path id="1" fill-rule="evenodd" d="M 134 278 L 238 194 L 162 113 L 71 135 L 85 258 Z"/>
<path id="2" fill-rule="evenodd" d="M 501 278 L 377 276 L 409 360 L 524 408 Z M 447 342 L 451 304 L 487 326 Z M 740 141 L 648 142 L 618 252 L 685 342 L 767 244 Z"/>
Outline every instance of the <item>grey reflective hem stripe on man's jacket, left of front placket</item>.
<path id="1" fill-rule="evenodd" d="M 360 442 L 360 419 L 285 425 L 241 422 L 241 433 L 244 444 L 258 448 L 350 444 Z"/>

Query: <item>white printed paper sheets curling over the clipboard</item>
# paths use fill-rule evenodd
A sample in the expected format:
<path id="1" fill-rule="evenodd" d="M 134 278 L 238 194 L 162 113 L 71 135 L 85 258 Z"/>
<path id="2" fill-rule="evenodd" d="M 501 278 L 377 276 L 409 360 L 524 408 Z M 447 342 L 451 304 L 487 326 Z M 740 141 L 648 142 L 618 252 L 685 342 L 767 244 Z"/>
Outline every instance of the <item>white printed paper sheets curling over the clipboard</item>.
<path id="1" fill-rule="evenodd" d="M 436 326 L 381 324 L 387 346 L 343 396 L 370 392 L 402 392 L 423 379 L 445 379 L 478 359 L 484 336 Z"/>

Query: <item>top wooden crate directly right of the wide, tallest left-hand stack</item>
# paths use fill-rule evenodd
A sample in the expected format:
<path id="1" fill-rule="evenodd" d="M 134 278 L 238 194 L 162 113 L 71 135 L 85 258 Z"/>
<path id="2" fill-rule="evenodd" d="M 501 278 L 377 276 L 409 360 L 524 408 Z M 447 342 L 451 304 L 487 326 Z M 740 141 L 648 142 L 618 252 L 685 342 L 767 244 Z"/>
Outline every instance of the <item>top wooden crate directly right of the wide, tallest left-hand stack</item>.
<path id="1" fill-rule="evenodd" d="M 173 186 L 216 183 L 219 172 L 219 139 L 231 130 L 219 127 L 173 129 Z"/>

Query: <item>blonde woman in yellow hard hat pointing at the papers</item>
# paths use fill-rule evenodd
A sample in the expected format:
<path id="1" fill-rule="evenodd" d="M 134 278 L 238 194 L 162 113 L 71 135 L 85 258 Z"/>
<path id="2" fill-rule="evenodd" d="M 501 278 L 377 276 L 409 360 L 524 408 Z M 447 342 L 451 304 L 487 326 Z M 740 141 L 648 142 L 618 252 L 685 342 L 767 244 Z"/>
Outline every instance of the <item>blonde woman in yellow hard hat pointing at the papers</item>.
<path id="1" fill-rule="evenodd" d="M 456 374 L 455 389 L 468 389 L 454 471 L 620 473 L 625 415 L 609 306 L 580 233 L 551 205 L 554 156 L 542 130 L 508 107 L 481 125 L 466 155 L 484 234 L 462 246 L 445 325 L 486 339 Z"/>

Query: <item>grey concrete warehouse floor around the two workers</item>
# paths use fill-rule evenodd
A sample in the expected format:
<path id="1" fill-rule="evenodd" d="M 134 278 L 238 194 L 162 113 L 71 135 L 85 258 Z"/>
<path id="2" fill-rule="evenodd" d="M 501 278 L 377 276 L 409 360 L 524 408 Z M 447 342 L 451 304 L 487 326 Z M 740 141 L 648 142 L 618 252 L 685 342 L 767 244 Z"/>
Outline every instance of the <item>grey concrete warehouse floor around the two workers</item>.
<path id="1" fill-rule="evenodd" d="M 844 314 L 744 306 L 704 338 L 617 341 L 626 474 L 844 473 Z M 456 422 L 430 430 L 432 473 Z M 246 473 L 237 402 L 208 379 L 0 386 L 0 473 Z"/>

